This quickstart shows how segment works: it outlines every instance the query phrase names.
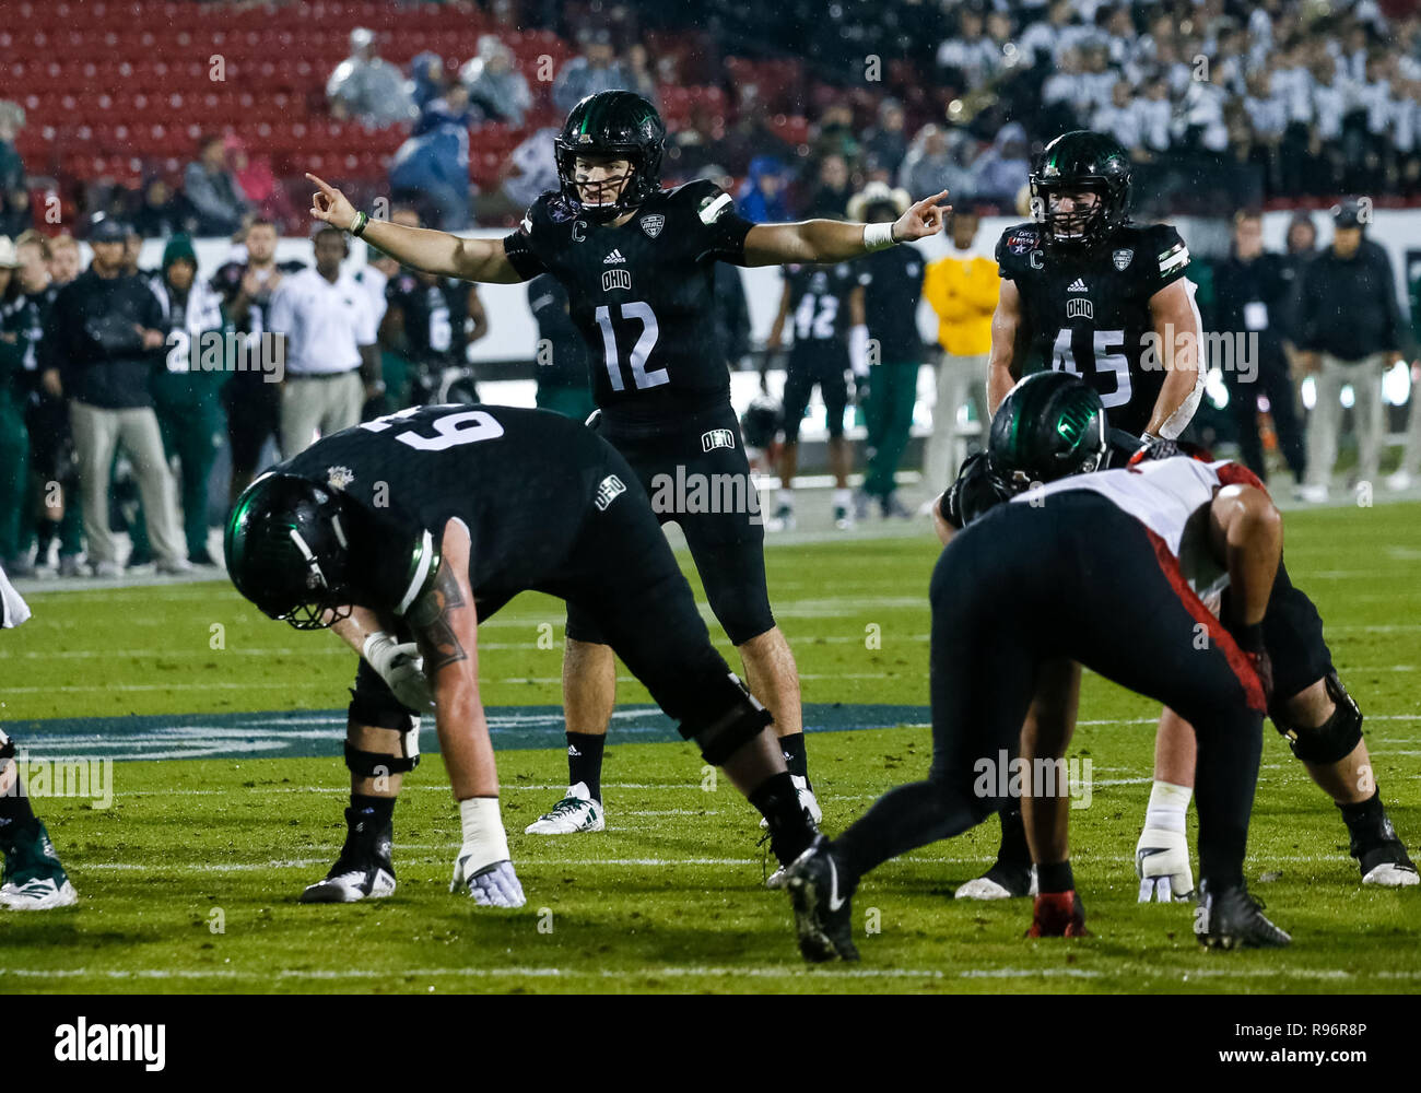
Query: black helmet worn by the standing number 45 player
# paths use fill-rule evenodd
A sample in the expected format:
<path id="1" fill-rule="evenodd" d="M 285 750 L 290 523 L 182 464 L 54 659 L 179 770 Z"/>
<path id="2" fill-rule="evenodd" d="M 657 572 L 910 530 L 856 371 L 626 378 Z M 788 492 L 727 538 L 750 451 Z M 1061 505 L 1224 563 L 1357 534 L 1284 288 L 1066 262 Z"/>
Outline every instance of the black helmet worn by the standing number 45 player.
<path id="1" fill-rule="evenodd" d="M 1108 239 L 1130 216 L 1130 155 L 1103 132 L 1063 132 L 1032 166 L 1032 217 L 1047 246 L 1088 250 Z M 1052 212 L 1052 195 L 1090 190 L 1090 209 Z"/>

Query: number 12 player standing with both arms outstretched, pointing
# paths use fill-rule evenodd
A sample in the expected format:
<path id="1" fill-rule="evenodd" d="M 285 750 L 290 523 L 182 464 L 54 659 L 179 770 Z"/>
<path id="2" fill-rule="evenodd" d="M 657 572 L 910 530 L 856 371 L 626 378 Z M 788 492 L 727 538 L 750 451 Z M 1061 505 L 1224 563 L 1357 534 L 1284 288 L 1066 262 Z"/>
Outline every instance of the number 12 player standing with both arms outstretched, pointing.
<path id="1" fill-rule="evenodd" d="M 838 263 L 922 239 L 942 230 L 946 192 L 919 200 L 891 225 L 752 225 L 713 182 L 661 189 L 665 136 L 661 117 L 639 95 L 588 95 L 557 136 L 558 192 L 543 193 L 520 230 L 500 240 L 371 220 L 315 176 L 308 176 L 318 188 L 311 215 L 429 273 L 499 283 L 551 273 L 564 284 L 594 360 L 601 434 L 631 463 L 658 516 L 685 532 L 710 608 L 740 651 L 752 692 L 774 715 L 796 785 L 817 813 L 799 674 L 770 611 L 764 527 L 715 335 L 712 267 Z M 726 490 L 730 496 L 720 496 Z M 570 792 L 541 830 L 593 826 L 594 783 L 615 702 L 612 651 L 576 607 L 563 678 L 570 782 L 580 792 Z"/>

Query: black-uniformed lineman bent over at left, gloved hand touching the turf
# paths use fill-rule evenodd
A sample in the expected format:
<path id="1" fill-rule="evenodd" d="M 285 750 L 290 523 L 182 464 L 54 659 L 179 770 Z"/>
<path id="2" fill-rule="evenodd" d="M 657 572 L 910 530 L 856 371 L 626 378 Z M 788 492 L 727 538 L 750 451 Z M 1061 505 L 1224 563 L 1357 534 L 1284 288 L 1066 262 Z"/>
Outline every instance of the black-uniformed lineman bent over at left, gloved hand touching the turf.
<path id="1" fill-rule="evenodd" d="M 576 604 L 708 763 L 766 819 L 782 864 L 814 827 L 770 715 L 710 644 L 691 586 L 627 461 L 541 409 L 402 409 L 334 434 L 237 499 L 225 540 L 237 591 L 361 654 L 345 763 L 348 834 L 303 903 L 389 895 L 392 816 L 433 712 L 463 826 L 450 890 L 522 907 L 479 698 L 477 624 L 527 588 Z"/>

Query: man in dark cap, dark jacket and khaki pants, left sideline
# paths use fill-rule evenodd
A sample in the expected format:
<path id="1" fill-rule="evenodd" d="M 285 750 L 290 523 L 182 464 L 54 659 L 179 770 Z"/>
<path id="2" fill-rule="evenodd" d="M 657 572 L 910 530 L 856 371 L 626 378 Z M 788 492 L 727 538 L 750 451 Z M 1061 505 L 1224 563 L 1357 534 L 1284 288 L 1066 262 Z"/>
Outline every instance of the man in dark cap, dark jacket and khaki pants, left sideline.
<path id="1" fill-rule="evenodd" d="M 118 544 L 108 523 L 109 475 L 122 443 L 148 515 L 159 573 L 186 573 L 173 482 L 163 456 L 148 379 L 162 360 L 162 308 L 141 277 L 124 273 L 128 229 L 102 217 L 90 232 L 94 262 L 60 290 L 44 340 L 61 364 L 80 459 L 84 532 L 95 577 L 118 577 Z"/>

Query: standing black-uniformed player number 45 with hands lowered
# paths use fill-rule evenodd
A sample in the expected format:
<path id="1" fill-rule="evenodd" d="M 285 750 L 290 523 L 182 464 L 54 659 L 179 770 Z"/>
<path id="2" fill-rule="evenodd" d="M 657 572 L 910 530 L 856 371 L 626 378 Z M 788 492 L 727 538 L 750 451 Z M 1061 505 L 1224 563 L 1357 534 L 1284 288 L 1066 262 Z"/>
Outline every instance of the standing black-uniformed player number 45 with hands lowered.
<path id="1" fill-rule="evenodd" d="M 1088 131 L 1061 134 L 1032 166 L 1033 220 L 996 244 L 993 414 L 1017 379 L 1046 368 L 1086 379 L 1110 424 L 1135 436 L 1174 439 L 1198 409 L 1202 328 L 1185 276 L 1189 250 L 1172 227 L 1128 219 L 1130 173 L 1124 148 Z M 1030 891 L 1020 812 L 1009 809 L 1002 824 L 998 864 L 959 897 Z"/>

